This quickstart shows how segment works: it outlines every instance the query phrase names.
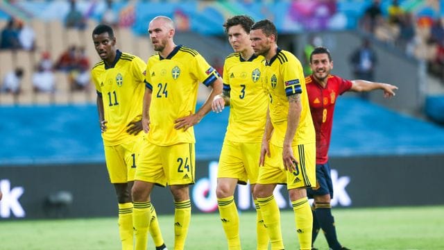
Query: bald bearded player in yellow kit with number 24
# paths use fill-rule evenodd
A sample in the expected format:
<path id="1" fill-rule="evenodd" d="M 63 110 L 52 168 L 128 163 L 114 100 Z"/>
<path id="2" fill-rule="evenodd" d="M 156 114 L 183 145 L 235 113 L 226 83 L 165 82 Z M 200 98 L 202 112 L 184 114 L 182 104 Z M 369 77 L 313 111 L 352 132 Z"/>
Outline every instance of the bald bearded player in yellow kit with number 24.
<path id="1" fill-rule="evenodd" d="M 175 206 L 174 249 L 181 250 L 191 219 L 188 185 L 194 183 L 195 172 L 193 126 L 211 110 L 211 101 L 222 92 L 222 80 L 197 51 L 174 43 L 175 28 L 169 17 L 152 19 L 148 33 L 158 53 L 148 58 L 146 68 L 142 125 L 147 134 L 133 186 L 135 249 L 146 249 L 153 186 L 168 184 Z M 195 112 L 199 83 L 212 85 L 212 92 Z"/>

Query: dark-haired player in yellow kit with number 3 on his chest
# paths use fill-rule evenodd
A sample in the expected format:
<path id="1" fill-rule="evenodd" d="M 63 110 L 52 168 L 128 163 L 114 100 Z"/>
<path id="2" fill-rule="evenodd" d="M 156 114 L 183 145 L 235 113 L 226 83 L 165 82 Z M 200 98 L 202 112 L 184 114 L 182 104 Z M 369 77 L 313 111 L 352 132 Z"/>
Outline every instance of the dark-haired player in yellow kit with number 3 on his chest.
<path id="1" fill-rule="evenodd" d="M 259 156 L 264 135 L 268 96 L 264 91 L 263 56 L 256 56 L 248 36 L 253 19 L 245 15 L 231 17 L 223 24 L 234 53 L 223 65 L 223 92 L 214 98 L 212 109 L 219 113 L 230 105 L 225 140 L 217 175 L 216 197 L 228 249 L 241 249 L 239 215 L 234 203 L 237 183 L 250 181 L 253 188 L 259 171 Z M 257 200 L 257 249 L 268 249 L 268 235 Z"/>

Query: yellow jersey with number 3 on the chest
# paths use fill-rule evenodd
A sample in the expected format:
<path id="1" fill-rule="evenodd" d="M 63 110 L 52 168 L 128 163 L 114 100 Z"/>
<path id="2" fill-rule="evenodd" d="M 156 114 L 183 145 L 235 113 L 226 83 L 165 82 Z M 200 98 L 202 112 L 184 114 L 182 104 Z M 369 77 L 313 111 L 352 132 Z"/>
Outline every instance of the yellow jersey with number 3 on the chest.
<path id="1" fill-rule="evenodd" d="M 230 92 L 230 118 L 225 140 L 262 142 L 268 108 L 263 56 L 244 60 L 231 53 L 223 65 L 223 91 Z"/>

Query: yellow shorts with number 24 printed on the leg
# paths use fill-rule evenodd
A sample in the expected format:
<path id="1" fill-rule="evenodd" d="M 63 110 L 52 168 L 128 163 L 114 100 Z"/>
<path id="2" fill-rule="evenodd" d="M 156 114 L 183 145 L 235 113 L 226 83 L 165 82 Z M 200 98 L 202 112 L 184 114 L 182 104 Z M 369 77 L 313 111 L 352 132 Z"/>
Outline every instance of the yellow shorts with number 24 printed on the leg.
<path id="1" fill-rule="evenodd" d="M 194 143 L 162 147 L 145 140 L 137 161 L 135 180 L 162 186 L 192 184 L 195 161 Z"/>

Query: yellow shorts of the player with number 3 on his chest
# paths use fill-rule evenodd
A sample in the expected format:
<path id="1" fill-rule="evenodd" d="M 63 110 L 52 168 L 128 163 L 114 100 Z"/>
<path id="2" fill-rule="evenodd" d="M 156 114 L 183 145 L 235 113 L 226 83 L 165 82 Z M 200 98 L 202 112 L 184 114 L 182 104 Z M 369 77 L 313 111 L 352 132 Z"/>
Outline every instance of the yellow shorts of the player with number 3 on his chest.
<path id="1" fill-rule="evenodd" d="M 239 184 L 256 184 L 261 142 L 223 142 L 217 178 L 237 178 Z"/>

